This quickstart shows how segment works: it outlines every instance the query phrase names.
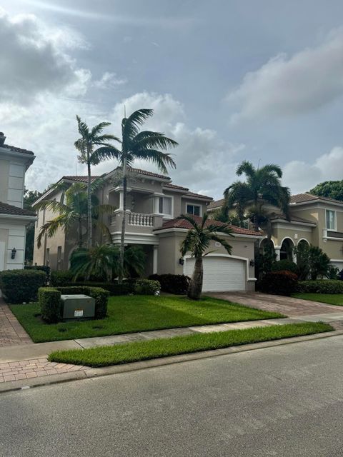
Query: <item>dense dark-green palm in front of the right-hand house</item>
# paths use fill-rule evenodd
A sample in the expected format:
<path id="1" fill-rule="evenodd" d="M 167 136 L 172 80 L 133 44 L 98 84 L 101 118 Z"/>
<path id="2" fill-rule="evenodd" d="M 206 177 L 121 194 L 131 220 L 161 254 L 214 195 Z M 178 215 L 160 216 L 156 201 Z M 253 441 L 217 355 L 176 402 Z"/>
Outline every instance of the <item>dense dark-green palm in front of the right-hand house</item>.
<path id="1" fill-rule="evenodd" d="M 281 185 L 282 169 L 278 165 L 269 164 L 262 168 L 254 168 L 251 162 L 242 161 L 236 174 L 247 177 L 246 182 L 236 181 L 224 191 L 227 211 L 235 209 L 242 224 L 248 216 L 254 223 L 254 230 L 259 231 L 259 224 L 268 221 L 268 214 L 263 209 L 265 203 L 277 206 L 289 219 L 288 187 Z"/>

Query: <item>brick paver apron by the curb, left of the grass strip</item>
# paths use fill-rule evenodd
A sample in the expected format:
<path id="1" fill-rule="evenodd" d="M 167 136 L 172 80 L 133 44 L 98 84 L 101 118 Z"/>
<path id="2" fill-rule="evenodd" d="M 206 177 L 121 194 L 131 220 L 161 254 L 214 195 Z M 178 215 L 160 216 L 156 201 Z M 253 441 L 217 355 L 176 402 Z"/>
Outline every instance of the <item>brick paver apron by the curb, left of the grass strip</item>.
<path id="1" fill-rule="evenodd" d="M 49 362 L 47 358 L 0 363 L 0 383 L 81 370 L 89 370 L 89 367 Z"/>

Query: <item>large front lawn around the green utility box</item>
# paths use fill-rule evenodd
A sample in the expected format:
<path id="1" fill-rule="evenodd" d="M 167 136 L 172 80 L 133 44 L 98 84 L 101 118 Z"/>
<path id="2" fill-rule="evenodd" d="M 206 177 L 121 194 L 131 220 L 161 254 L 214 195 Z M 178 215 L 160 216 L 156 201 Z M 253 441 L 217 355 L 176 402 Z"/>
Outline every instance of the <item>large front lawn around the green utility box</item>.
<path id="1" fill-rule="evenodd" d="M 11 305 L 11 310 L 35 343 L 284 317 L 217 298 L 192 301 L 179 296 L 113 296 L 108 316 L 99 321 L 47 324 L 41 321 L 37 303 Z"/>

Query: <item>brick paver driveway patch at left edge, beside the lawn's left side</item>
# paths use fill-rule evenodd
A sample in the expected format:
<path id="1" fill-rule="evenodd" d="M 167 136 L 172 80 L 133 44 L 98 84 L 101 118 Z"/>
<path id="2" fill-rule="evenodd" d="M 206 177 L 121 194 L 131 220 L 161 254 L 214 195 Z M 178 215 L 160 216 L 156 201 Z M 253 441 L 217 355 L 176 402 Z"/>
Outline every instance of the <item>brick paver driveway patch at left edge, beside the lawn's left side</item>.
<path id="1" fill-rule="evenodd" d="M 16 320 L 9 306 L 0 298 L 0 348 L 32 343 L 31 338 Z"/>

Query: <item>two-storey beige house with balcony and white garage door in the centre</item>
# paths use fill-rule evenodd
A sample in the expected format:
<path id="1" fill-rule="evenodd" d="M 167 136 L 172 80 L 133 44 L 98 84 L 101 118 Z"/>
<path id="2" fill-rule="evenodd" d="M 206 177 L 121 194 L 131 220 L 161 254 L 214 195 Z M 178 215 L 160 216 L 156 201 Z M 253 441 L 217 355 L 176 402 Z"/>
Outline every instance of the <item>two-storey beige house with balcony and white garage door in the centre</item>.
<path id="1" fill-rule="evenodd" d="M 120 243 L 123 217 L 123 189 L 114 184 L 117 173 L 118 169 L 106 174 L 106 184 L 97 193 L 101 204 L 117 208 L 113 216 L 104 216 L 103 219 L 115 244 Z M 192 274 L 194 259 L 189 256 L 181 258 L 179 251 L 190 226 L 175 218 L 180 214 L 192 214 L 200 220 L 212 198 L 172 184 L 169 176 L 140 169 L 131 169 L 131 176 L 128 179 L 125 242 L 128 246 L 135 244 L 144 248 L 147 256 L 145 276 L 151 273 Z M 86 183 L 86 176 L 64 176 L 60 181 Z M 50 190 L 38 201 L 58 201 L 59 198 L 56 191 Z M 39 211 L 38 216 L 36 233 L 54 214 Z M 222 246 L 213 243 L 209 255 L 204 258 L 204 291 L 254 290 L 254 241 L 262 236 L 238 227 L 232 229 L 234 237 L 228 240 L 233 247 L 232 256 Z M 101 233 L 95 233 L 94 238 L 99 243 L 106 241 Z M 53 238 L 46 237 L 40 249 L 35 244 L 34 262 L 39 265 L 49 263 L 53 269 L 67 269 L 76 240 L 76 232 L 65 235 L 62 230 Z"/>

